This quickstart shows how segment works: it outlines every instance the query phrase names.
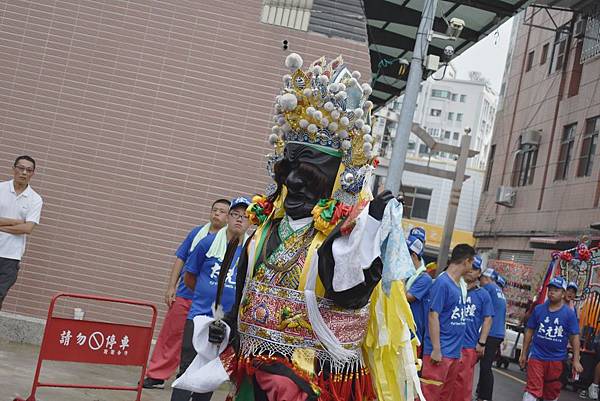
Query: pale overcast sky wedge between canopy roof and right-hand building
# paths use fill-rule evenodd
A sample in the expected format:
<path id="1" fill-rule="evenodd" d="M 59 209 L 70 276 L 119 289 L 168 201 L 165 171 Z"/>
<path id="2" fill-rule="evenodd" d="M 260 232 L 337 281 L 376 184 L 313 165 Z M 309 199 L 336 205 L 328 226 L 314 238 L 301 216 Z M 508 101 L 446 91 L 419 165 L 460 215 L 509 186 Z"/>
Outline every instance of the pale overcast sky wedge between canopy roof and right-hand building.
<path id="1" fill-rule="evenodd" d="M 490 81 L 496 93 L 499 93 L 504 75 L 504 63 L 510 46 L 511 29 L 512 18 L 457 56 L 452 61 L 457 70 L 457 78 L 468 79 L 469 71 L 479 71 Z"/>

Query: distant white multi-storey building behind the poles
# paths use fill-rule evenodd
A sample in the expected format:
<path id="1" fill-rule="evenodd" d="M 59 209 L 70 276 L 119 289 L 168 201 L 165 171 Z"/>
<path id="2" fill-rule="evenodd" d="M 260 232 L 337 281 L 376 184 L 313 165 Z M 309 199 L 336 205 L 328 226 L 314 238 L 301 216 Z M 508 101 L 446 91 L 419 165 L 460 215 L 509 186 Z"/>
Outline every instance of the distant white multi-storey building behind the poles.
<path id="1" fill-rule="evenodd" d="M 436 77 L 441 77 L 439 71 Z M 456 146 L 460 145 L 464 129 L 466 127 L 471 128 L 471 149 L 479 151 L 480 154 L 469 159 L 467 164 L 466 175 L 469 175 L 471 178 L 463 184 L 455 228 L 473 231 L 485 174 L 485 164 L 492 138 L 498 95 L 482 80 L 458 80 L 453 77 L 454 70 L 447 74 L 444 80 L 435 81 L 430 78 L 422 83 L 413 121 L 423 128 L 439 129 L 441 134 L 435 137 L 435 139 L 439 142 Z M 458 98 L 456 101 L 453 101 L 451 99 L 432 97 L 431 91 L 434 89 L 456 93 Z M 460 95 L 466 95 L 464 103 L 460 102 Z M 393 109 L 384 109 L 379 111 L 378 114 L 387 119 L 387 128 L 394 135 L 395 122 L 402 107 L 402 98 L 398 99 L 395 104 L 392 103 L 392 105 Z M 430 110 L 432 108 L 442 110 L 442 114 L 439 117 L 431 116 Z M 454 113 L 452 121 L 448 120 L 449 112 Z M 462 121 L 456 121 L 458 113 L 463 114 Z M 382 120 L 379 121 L 380 128 L 381 123 Z M 379 131 L 382 131 L 382 129 Z M 444 138 L 444 131 L 451 132 L 450 139 Z M 459 133 L 458 139 L 454 139 L 454 132 Z M 427 164 L 429 162 L 432 167 L 449 171 L 455 170 L 456 164 L 452 159 L 452 155 L 449 155 L 449 157 L 432 156 L 431 158 L 427 155 L 419 156 L 419 145 L 423 142 L 413 134 L 410 136 L 410 142 L 415 143 L 416 146 L 414 150 L 407 152 L 408 163 Z M 391 147 L 387 149 L 384 157 L 389 157 L 390 155 Z M 383 164 L 387 165 L 387 163 Z M 385 169 L 386 167 L 382 165 L 378 173 L 385 175 Z M 427 223 L 443 226 L 446 219 L 452 181 L 404 171 L 402 183 L 407 186 L 430 188 L 432 190 Z"/>

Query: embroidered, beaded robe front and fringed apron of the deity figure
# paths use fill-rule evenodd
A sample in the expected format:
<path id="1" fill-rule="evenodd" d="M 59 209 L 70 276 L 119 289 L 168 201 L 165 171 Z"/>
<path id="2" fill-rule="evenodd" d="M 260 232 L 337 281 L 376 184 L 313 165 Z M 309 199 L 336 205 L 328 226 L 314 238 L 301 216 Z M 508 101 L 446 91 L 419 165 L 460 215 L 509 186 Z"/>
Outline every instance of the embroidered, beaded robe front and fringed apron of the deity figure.
<path id="1" fill-rule="evenodd" d="M 263 262 L 246 281 L 238 314 L 238 372 L 251 376 L 255 363 L 276 359 L 310 382 L 319 400 L 375 399 L 361 350 L 369 305 L 343 309 L 317 297 L 323 320 L 341 345 L 352 351 L 347 360 L 335 359 L 314 333 L 304 292 L 299 291 L 300 275 L 307 268 L 307 250 L 315 238 L 313 226 L 294 231 L 284 218 L 278 234 L 282 240 L 279 246 L 267 258 L 264 249 L 258 250 Z"/>

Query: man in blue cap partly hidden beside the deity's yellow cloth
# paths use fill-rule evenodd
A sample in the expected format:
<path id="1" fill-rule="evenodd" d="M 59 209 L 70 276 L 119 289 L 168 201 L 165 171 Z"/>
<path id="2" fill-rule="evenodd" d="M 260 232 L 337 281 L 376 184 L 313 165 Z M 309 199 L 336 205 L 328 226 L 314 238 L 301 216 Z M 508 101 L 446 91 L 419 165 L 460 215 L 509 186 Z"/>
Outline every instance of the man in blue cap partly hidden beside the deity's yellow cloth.
<path id="1" fill-rule="evenodd" d="M 420 227 L 415 227 L 413 230 L 416 228 Z M 413 230 L 411 230 L 411 233 Z M 419 231 L 417 234 L 421 234 L 421 232 Z M 410 310 L 413 314 L 413 319 L 415 320 L 416 335 L 421 344 L 418 352 L 420 357 L 429 313 L 429 290 L 431 289 L 433 280 L 431 276 L 427 274 L 427 269 L 421 259 L 424 250 L 424 242 L 421 238 L 417 235 L 409 235 L 406 240 L 406 245 L 408 246 L 408 252 L 415 265 L 415 269 L 417 269 L 415 274 L 406 282 L 406 299 L 410 303 Z"/>

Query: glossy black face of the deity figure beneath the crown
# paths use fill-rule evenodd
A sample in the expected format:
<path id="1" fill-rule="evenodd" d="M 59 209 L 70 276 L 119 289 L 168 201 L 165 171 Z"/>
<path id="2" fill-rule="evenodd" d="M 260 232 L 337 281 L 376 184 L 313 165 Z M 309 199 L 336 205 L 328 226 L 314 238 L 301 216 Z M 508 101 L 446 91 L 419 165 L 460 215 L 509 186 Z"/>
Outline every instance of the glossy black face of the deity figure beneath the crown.
<path id="1" fill-rule="evenodd" d="M 310 216 L 319 199 L 331 196 L 339 166 L 340 158 L 306 145 L 287 144 L 283 160 L 275 167 L 277 183 L 288 190 L 283 204 L 287 215 Z"/>

